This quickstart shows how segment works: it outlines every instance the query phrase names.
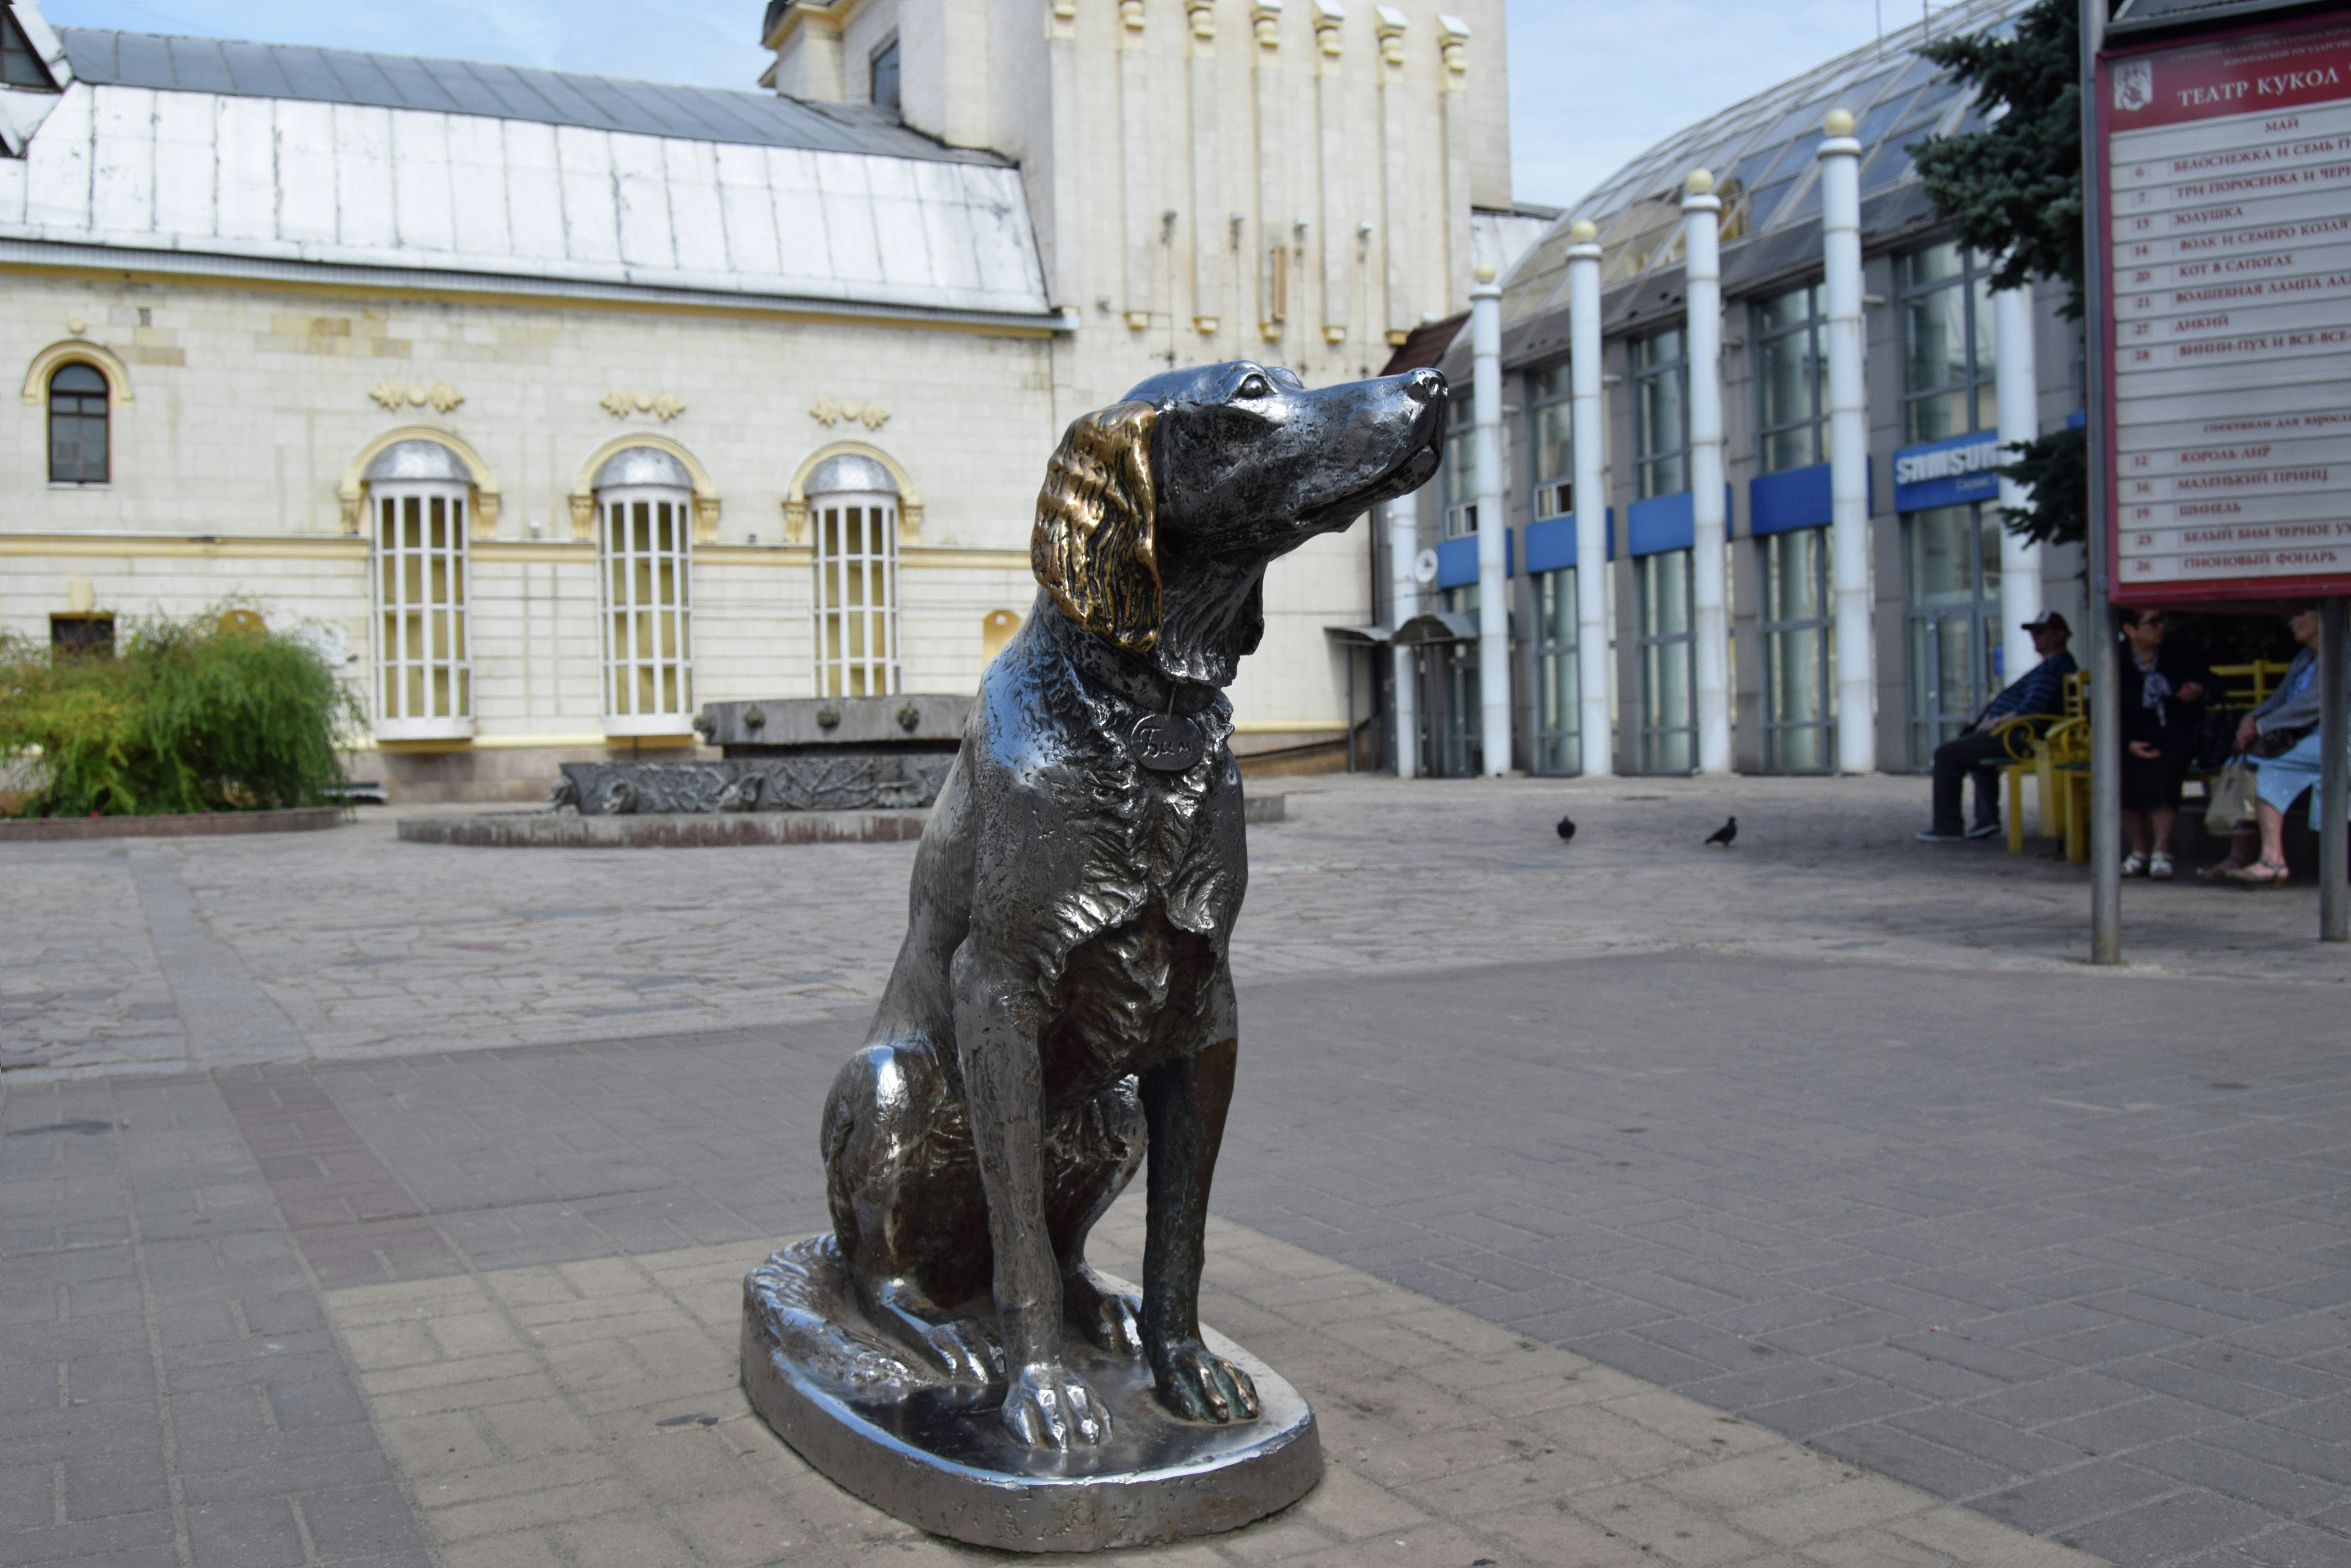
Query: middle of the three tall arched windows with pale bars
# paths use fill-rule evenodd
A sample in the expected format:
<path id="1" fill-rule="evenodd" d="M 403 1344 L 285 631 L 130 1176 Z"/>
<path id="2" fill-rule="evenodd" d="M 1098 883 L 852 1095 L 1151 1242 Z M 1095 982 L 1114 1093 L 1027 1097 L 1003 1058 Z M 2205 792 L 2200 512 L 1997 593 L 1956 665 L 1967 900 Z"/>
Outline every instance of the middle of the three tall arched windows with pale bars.
<path id="1" fill-rule="evenodd" d="M 684 733 L 694 724 L 694 477 L 668 451 L 630 447 L 595 470 L 592 489 L 604 595 L 604 733 Z"/>

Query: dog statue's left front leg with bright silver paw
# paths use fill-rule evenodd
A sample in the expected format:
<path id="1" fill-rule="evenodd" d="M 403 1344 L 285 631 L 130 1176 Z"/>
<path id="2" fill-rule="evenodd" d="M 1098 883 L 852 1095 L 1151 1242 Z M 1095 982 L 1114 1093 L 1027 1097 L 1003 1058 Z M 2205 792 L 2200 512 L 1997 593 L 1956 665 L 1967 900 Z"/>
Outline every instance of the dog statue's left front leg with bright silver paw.
<path id="1" fill-rule="evenodd" d="M 997 1316 L 1004 1326 L 1004 1425 L 1030 1448 L 1110 1441 L 1110 1410 L 1063 1366 L 1060 1265 L 1044 1220 L 1044 1070 L 1039 1004 L 966 940 L 955 954 L 955 1048 L 971 1145 L 987 1190 Z"/>

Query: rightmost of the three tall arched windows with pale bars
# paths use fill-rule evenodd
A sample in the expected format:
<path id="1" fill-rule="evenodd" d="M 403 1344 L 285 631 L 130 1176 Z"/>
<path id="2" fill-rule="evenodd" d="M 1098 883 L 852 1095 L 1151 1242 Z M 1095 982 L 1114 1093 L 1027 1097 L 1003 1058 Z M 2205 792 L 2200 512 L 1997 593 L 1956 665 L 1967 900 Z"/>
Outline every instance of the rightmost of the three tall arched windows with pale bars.
<path id="1" fill-rule="evenodd" d="M 816 696 L 898 691 L 898 482 L 844 451 L 809 475 Z"/>

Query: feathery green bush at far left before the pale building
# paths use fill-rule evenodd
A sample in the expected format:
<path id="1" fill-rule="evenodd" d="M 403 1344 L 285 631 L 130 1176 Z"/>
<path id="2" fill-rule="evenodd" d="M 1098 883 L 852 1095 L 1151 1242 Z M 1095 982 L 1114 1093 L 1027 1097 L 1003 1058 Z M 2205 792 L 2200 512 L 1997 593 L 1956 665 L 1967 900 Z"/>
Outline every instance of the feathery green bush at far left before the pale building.
<path id="1" fill-rule="evenodd" d="M 0 762 L 24 816 L 315 806 L 360 705 L 310 644 L 221 611 L 129 628 L 115 658 L 0 635 Z"/>

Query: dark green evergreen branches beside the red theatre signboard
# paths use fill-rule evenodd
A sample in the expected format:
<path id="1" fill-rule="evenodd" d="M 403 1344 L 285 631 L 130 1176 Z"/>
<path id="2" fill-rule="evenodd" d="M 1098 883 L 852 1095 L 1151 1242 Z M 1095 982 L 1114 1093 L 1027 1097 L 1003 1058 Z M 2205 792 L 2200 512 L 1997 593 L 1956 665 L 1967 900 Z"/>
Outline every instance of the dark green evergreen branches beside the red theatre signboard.
<path id="1" fill-rule="evenodd" d="M 2081 9 L 2038 0 L 2015 31 L 1942 38 L 1923 49 L 1977 92 L 1984 129 L 1911 143 L 1918 183 L 1961 244 L 1998 256 L 1991 282 L 2015 289 L 2038 277 L 2067 284 L 2067 317 L 2083 313 L 2081 226 Z M 2031 487 L 2012 534 L 2078 543 L 2090 524 L 2090 444 L 2052 430 L 2017 449 L 2003 480 Z"/>

